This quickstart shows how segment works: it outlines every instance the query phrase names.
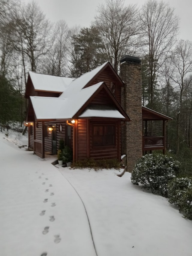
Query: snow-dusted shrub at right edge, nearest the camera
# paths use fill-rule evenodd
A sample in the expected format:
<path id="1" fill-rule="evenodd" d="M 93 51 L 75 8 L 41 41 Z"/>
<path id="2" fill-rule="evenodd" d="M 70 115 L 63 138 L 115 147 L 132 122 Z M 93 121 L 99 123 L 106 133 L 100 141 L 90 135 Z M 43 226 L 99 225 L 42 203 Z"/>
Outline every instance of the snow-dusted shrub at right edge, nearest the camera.
<path id="1" fill-rule="evenodd" d="M 168 183 L 169 202 L 179 206 L 185 218 L 192 219 L 192 178 L 176 178 Z"/>

